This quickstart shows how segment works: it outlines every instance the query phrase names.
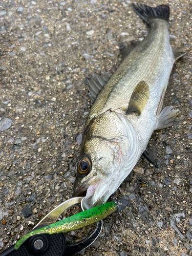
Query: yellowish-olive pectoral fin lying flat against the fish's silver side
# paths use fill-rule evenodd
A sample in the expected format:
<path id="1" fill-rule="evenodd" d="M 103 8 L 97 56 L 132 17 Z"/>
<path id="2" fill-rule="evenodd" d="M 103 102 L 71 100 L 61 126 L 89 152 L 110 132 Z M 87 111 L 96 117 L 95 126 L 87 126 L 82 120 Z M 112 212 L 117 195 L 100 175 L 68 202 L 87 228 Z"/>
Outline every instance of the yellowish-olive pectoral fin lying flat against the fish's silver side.
<path id="1" fill-rule="evenodd" d="M 141 115 L 145 105 L 150 97 L 150 88 L 145 81 L 140 81 L 136 88 L 134 89 L 128 109 L 125 115 L 136 113 L 136 115 Z"/>

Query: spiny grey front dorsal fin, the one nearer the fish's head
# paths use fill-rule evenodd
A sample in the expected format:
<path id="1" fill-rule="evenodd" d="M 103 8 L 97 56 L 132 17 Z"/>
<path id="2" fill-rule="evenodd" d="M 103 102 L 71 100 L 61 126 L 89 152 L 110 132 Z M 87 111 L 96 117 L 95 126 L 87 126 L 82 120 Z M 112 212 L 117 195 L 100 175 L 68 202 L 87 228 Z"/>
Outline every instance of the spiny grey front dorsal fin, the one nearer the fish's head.
<path id="1" fill-rule="evenodd" d="M 110 77 L 115 72 L 115 68 L 109 72 L 102 72 L 100 75 L 94 72 L 94 75 L 89 75 L 84 80 L 84 84 L 88 91 L 91 93 L 90 98 L 95 100 L 100 90 L 110 79 Z"/>

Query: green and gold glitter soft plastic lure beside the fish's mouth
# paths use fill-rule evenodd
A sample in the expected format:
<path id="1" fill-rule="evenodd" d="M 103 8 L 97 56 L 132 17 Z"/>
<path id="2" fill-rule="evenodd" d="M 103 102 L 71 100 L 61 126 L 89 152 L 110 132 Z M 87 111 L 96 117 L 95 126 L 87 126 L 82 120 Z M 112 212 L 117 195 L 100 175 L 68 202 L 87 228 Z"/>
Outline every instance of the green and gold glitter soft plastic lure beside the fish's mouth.
<path id="1" fill-rule="evenodd" d="M 78 214 L 70 216 L 46 227 L 31 231 L 15 244 L 15 249 L 17 250 L 23 242 L 25 242 L 29 237 L 33 236 L 34 234 L 53 234 L 76 230 L 100 221 L 115 211 L 119 212 L 122 209 L 122 206 L 123 204 L 120 201 L 105 203 L 89 210 L 79 212 Z"/>

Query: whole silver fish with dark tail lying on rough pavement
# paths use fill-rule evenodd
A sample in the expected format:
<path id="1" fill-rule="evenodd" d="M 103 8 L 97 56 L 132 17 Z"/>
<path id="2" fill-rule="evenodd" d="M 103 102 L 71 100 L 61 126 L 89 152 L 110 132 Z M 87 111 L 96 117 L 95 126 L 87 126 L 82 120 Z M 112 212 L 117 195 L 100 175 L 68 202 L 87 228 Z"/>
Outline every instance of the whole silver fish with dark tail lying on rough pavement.
<path id="1" fill-rule="evenodd" d="M 111 75 L 94 74 L 86 86 L 94 103 L 84 126 L 73 196 L 84 207 L 105 203 L 132 172 L 155 130 L 182 120 L 163 98 L 174 62 L 186 53 L 169 43 L 169 6 L 132 4 L 149 25 L 147 36 Z"/>

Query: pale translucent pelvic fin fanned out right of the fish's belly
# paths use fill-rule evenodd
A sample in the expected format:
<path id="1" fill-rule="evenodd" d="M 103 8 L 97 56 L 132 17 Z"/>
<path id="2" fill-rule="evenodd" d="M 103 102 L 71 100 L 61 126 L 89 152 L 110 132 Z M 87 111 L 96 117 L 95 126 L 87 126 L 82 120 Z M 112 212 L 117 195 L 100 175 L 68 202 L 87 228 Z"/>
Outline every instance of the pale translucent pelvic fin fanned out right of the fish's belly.
<path id="1" fill-rule="evenodd" d="M 161 111 L 155 126 L 155 130 L 172 126 L 183 119 L 179 110 L 172 110 L 173 106 L 165 106 Z"/>

